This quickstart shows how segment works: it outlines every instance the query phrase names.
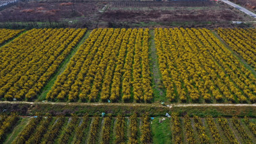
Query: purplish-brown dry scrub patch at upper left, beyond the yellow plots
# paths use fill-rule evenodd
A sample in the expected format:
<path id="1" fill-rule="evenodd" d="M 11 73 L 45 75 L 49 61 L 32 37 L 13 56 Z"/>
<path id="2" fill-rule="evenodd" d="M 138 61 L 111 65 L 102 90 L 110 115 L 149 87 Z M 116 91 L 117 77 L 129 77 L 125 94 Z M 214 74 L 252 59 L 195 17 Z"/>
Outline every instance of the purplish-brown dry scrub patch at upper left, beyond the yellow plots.
<path id="1" fill-rule="evenodd" d="M 0 11 L 0 22 L 57 22 L 63 18 L 88 16 L 98 11 L 96 2 L 75 3 L 19 3 Z"/>

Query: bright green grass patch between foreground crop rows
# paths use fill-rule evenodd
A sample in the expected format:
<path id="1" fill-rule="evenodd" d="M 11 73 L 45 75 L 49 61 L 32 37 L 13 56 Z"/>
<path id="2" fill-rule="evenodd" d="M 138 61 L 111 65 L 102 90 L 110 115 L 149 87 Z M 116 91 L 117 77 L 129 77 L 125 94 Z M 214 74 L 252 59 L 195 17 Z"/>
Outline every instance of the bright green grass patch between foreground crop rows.
<path id="1" fill-rule="evenodd" d="M 172 133 L 170 131 L 170 118 L 166 118 L 166 120 L 163 120 L 162 122 L 159 122 L 159 120 L 162 120 L 163 117 L 156 117 L 152 121 L 151 129 L 152 129 L 152 137 L 153 137 L 153 143 L 171 143 L 172 142 Z"/>

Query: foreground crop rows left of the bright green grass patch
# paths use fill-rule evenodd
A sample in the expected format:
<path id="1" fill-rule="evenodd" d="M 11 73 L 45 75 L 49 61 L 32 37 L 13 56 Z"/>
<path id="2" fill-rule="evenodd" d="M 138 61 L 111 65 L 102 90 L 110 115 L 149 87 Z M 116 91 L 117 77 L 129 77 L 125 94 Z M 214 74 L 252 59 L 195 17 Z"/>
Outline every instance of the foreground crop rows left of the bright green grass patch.
<path id="1" fill-rule="evenodd" d="M 8 136 L 13 133 L 13 128 L 19 127 L 20 117 L 16 114 L 11 116 L 1 115 L 0 131 L 1 143 L 7 143 L 8 140 L 3 135 Z M 9 120 L 11 125 L 5 124 Z M 128 122 L 131 120 L 131 122 Z M 139 125 L 141 121 L 141 125 Z M 14 124 L 17 122 L 18 124 Z M 7 126 L 5 126 L 7 125 Z M 6 127 L 6 128 L 5 128 Z M 6 130 L 5 130 L 6 129 Z M 15 132 L 17 133 L 17 132 Z M 128 134 L 129 133 L 129 134 Z M 139 136 L 138 133 L 141 135 Z M 125 117 L 99 116 L 89 117 L 85 114 L 83 117 L 72 115 L 65 116 L 33 116 L 29 118 L 26 126 L 18 133 L 18 137 L 12 138 L 8 143 L 152 143 L 150 127 L 150 117 L 143 114 L 138 117 L 137 114 Z"/>

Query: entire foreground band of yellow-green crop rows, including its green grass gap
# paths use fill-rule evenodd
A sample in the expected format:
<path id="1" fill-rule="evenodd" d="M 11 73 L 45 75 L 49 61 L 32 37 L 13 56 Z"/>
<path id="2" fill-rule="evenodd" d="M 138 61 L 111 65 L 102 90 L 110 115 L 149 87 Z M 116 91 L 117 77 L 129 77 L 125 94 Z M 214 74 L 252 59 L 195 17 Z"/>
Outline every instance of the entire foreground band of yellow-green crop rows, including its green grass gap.
<path id="1" fill-rule="evenodd" d="M 177 116 L 150 118 L 148 114 L 82 117 L 33 116 L 20 131 L 17 114 L 1 115 L 1 143 L 255 143 L 255 118 Z M 5 123 L 9 120 L 11 125 Z M 16 122 L 16 123 L 13 123 Z M 8 127 L 7 127 L 8 126 Z M 16 133 L 9 141 L 11 135 Z M 161 135 L 159 135 L 161 134 Z M 2 137 L 1 137 L 2 138 Z"/>

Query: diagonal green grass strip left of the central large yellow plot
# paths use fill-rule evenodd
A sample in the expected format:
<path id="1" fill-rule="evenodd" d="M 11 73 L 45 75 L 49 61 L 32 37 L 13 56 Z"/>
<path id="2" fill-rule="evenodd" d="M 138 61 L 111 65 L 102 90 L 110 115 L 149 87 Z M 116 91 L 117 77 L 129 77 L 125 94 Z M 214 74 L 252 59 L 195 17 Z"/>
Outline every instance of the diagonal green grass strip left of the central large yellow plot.
<path id="1" fill-rule="evenodd" d="M 61 63 L 59 68 L 57 69 L 57 72 L 51 77 L 50 81 L 42 88 L 42 91 L 38 95 L 38 99 L 36 100 L 37 102 L 40 102 L 42 100 L 45 100 L 46 94 L 50 91 L 50 89 L 53 87 L 58 75 L 61 75 L 63 71 L 67 68 L 67 64 L 69 63 L 70 59 L 75 55 L 75 52 L 77 52 L 79 46 L 81 46 L 86 38 L 90 35 L 90 31 L 86 32 L 85 36 L 80 40 L 80 42 L 71 50 L 70 54 L 64 59 L 64 61 Z"/>

